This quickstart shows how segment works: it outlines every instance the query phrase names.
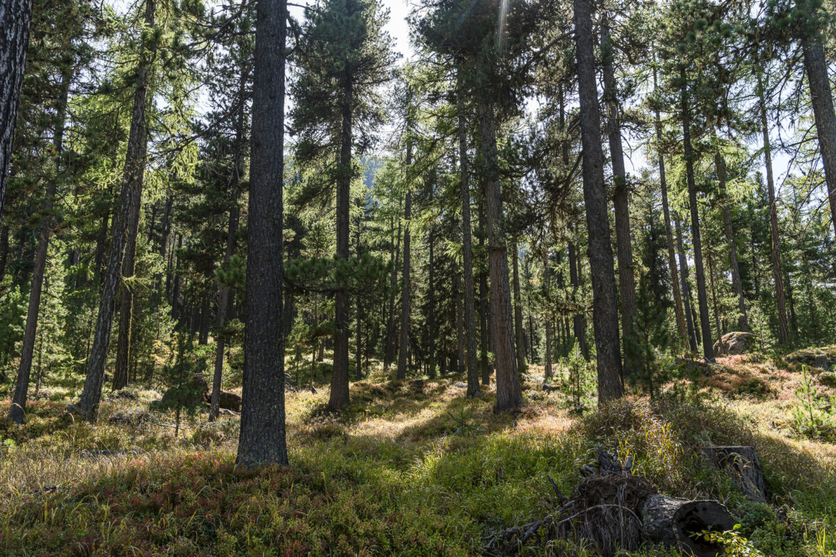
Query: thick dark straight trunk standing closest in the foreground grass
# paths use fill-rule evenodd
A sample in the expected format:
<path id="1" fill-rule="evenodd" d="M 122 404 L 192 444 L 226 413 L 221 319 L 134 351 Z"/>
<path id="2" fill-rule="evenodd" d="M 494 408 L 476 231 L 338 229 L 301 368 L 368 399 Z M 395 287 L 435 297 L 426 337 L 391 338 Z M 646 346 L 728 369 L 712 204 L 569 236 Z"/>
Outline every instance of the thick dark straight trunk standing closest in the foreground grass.
<path id="1" fill-rule="evenodd" d="M 247 225 L 247 316 L 236 462 L 288 463 L 282 330 L 284 43 L 286 0 L 257 0 L 252 159 Z"/>

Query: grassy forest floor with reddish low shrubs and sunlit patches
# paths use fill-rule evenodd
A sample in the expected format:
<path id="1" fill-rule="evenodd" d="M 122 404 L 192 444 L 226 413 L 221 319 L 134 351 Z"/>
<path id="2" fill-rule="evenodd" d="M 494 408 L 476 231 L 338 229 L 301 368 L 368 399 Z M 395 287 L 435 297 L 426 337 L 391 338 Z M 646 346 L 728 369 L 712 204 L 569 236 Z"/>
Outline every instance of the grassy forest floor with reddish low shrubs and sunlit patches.
<path id="1" fill-rule="evenodd" d="M 464 397 L 461 376 L 418 387 L 382 370 L 334 414 L 322 381 L 288 392 L 291 465 L 259 471 L 233 465 L 235 417 L 209 424 L 204 409 L 175 438 L 173 414 L 148 409 L 160 393 L 127 389 L 105 395 L 91 426 L 64 412 L 80 386 L 50 384 L 22 427 L 0 401 L 0 554 L 476 555 L 486 535 L 556 509 L 548 477 L 571 493 L 600 444 L 664 494 L 723 501 L 749 540 L 733 554 L 833 557 L 836 373 L 718 363 L 696 385 L 580 414 L 537 367 L 528 405 L 502 414 L 492 388 Z M 770 504 L 701 458 L 706 443 L 756 448 Z"/>

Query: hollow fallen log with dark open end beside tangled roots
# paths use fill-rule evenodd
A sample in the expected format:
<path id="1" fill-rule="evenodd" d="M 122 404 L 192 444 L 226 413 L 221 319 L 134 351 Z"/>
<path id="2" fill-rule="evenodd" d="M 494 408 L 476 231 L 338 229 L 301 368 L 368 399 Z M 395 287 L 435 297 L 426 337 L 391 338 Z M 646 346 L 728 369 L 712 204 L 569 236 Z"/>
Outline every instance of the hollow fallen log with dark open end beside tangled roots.
<path id="1" fill-rule="evenodd" d="M 675 547 L 694 557 L 716 557 L 721 544 L 712 544 L 694 534 L 712 529 L 726 531 L 734 519 L 719 501 L 690 501 L 652 494 L 641 509 L 642 535 L 652 542 Z"/>

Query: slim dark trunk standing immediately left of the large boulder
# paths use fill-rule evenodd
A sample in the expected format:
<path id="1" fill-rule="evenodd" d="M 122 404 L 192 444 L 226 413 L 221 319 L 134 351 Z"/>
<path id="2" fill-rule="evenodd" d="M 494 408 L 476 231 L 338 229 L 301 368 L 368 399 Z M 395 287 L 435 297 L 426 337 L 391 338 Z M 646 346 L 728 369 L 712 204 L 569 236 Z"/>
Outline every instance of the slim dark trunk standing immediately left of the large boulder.
<path id="1" fill-rule="evenodd" d="M 686 83 L 685 69 L 681 78 Z M 706 296 L 706 274 L 702 268 L 702 245 L 700 241 L 699 207 L 696 205 L 696 182 L 694 180 L 695 154 L 691 147 L 691 108 L 688 106 L 686 86 L 681 91 L 682 133 L 685 146 L 686 177 L 688 180 L 688 203 L 691 206 L 691 236 L 694 244 L 694 268 L 696 270 L 696 297 L 700 303 L 700 324 L 702 329 L 702 352 L 706 362 L 714 362 L 714 348 L 711 346 L 711 320 L 708 316 Z"/>

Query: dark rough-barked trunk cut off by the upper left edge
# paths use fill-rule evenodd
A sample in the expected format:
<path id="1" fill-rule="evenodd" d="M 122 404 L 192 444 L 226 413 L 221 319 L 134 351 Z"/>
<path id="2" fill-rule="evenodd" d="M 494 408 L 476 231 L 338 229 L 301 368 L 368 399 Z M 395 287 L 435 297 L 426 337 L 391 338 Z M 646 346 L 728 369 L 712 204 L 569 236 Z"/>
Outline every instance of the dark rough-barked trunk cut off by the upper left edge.
<path id="1" fill-rule="evenodd" d="M 18 121 L 23 68 L 32 23 L 32 0 L 0 0 L 0 223 Z M 0 275 L 2 276 L 2 275 Z"/>

